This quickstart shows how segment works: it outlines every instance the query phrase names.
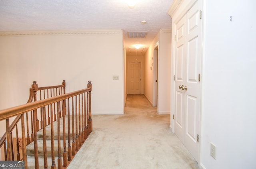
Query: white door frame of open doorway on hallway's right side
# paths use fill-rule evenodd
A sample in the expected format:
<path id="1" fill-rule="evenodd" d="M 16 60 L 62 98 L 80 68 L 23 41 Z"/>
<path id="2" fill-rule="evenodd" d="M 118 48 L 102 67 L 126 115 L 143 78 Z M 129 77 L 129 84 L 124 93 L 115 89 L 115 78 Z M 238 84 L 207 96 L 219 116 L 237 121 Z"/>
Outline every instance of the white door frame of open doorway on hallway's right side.
<path id="1" fill-rule="evenodd" d="M 154 56 L 152 58 L 153 63 L 153 101 L 152 106 L 156 107 L 158 105 L 158 57 L 159 57 L 159 42 L 154 45 Z M 158 108 L 157 108 L 158 112 Z"/>

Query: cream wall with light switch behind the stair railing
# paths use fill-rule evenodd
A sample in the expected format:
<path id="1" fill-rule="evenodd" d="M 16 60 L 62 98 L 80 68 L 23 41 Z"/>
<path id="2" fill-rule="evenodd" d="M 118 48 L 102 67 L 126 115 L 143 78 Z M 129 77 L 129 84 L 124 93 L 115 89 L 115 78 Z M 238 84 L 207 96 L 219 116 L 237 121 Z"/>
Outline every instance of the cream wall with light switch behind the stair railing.
<path id="1" fill-rule="evenodd" d="M 123 114 L 121 29 L 0 34 L 1 110 L 26 103 L 32 81 L 49 86 L 66 80 L 71 92 L 86 88 L 90 80 L 92 114 Z"/>

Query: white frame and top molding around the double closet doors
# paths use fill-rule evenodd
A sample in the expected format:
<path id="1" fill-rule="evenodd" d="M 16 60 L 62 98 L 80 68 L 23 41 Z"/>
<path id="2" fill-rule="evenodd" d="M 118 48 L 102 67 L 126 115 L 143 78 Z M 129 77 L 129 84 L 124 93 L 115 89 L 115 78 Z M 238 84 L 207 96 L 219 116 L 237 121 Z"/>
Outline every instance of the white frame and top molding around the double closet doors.
<path id="1" fill-rule="evenodd" d="M 197 2 L 197 1 L 201 1 L 202 2 L 202 11 L 205 11 L 204 8 L 204 0 L 187 0 L 187 1 L 180 1 L 180 0 L 174 0 L 174 2 L 172 3 L 172 6 L 169 8 L 168 10 L 168 14 L 170 15 L 170 17 L 172 18 L 172 23 L 174 22 L 174 20 L 179 20 L 182 18 L 182 16 L 184 16 L 189 10 L 190 8 Z M 202 12 L 202 13 L 203 13 Z M 174 16 L 174 17 L 173 17 Z M 203 92 L 204 92 L 204 42 L 205 42 L 205 37 L 204 37 L 204 22 L 205 22 L 205 18 L 204 16 L 202 16 L 202 57 L 201 57 L 201 80 L 200 80 L 200 84 L 201 84 L 201 100 L 200 100 L 200 110 L 199 110 L 199 114 L 200 114 L 200 126 L 199 126 L 199 135 L 200 138 L 202 138 L 202 108 L 203 108 Z M 172 24 L 172 30 L 175 30 L 174 24 Z M 175 31 L 172 31 L 172 55 L 171 55 L 171 117 L 170 117 L 170 129 L 172 130 L 172 132 L 175 133 L 175 128 L 174 128 L 174 114 L 175 114 L 175 77 L 174 77 L 174 72 L 175 72 Z M 202 145 L 202 141 L 199 138 L 199 155 L 198 155 L 198 166 L 200 166 L 200 161 L 201 161 L 201 145 Z"/>

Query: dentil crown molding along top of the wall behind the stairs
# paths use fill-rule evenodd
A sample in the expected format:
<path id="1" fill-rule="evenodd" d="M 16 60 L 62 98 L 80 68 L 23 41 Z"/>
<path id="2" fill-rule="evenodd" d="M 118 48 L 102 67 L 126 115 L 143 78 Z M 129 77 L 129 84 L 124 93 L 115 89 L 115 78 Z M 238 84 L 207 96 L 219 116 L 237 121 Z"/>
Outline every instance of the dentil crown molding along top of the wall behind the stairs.
<path id="1" fill-rule="evenodd" d="M 84 29 L 84 30 L 52 30 L 52 31 L 0 31 L 0 36 L 12 35 L 100 35 L 122 34 L 122 29 Z"/>

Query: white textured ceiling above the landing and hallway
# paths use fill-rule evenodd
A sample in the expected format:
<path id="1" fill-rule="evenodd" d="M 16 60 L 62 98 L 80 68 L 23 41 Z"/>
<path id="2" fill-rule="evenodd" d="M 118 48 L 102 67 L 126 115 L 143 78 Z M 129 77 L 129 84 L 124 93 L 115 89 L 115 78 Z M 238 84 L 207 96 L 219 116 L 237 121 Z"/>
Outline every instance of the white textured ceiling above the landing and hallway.
<path id="1" fill-rule="evenodd" d="M 167 11 L 173 0 L 0 0 L 0 31 L 123 29 L 126 51 L 142 44 L 142 54 L 162 29 L 171 29 Z M 140 22 L 146 20 L 147 24 Z M 147 31 L 146 38 L 128 38 Z M 139 54 L 139 53 L 138 53 Z"/>

